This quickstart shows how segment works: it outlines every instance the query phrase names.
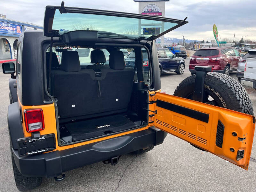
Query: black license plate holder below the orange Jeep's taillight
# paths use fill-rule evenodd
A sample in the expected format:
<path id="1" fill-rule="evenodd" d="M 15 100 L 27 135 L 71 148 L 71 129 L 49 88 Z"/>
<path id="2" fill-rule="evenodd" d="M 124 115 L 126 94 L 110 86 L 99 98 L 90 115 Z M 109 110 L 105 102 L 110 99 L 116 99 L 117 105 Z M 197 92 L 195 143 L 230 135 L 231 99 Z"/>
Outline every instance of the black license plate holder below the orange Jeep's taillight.
<path id="1" fill-rule="evenodd" d="M 55 134 L 41 135 L 38 138 L 25 137 L 17 140 L 19 156 L 44 153 L 56 149 Z"/>

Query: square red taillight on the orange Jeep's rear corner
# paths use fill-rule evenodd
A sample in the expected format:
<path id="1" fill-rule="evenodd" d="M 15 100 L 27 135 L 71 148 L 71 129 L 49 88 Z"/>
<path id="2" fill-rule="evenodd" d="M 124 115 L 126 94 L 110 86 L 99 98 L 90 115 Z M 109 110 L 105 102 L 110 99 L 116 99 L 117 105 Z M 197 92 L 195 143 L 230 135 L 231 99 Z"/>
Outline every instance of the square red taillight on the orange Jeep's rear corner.
<path id="1" fill-rule="evenodd" d="M 44 129 L 44 113 L 42 109 L 25 110 L 24 120 L 27 132 L 35 132 Z"/>

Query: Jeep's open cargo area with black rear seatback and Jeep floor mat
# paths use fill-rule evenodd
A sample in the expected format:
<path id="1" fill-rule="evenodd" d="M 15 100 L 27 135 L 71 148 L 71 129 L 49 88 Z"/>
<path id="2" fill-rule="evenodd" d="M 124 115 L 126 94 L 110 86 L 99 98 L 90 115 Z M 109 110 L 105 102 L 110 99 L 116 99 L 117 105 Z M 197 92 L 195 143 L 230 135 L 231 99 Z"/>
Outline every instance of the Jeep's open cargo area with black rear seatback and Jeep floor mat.
<path id="1" fill-rule="evenodd" d="M 61 52 L 52 52 L 47 85 L 55 98 L 60 145 L 147 125 L 147 85 L 137 80 L 135 66 L 125 66 L 122 51 L 108 49 L 109 53 L 107 49 L 95 48 L 58 51 Z M 49 59 L 50 52 L 46 52 L 46 61 Z M 142 58 L 140 62 L 142 66 Z M 49 68 L 48 62 L 46 65 Z"/>

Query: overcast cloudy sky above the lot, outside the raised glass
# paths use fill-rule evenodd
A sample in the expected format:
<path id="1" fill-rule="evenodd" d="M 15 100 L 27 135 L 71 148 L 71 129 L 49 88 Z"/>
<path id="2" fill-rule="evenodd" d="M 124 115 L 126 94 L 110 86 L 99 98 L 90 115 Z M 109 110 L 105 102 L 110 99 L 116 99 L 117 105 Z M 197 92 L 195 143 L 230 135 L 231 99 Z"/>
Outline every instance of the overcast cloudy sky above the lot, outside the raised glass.
<path id="1" fill-rule="evenodd" d="M 7 19 L 43 26 L 46 5 L 60 6 L 61 0 L 0 0 L 0 14 Z M 133 0 L 66 0 L 65 6 L 138 13 Z M 191 40 L 213 40 L 212 26 L 217 25 L 219 37 L 256 40 L 255 0 L 170 0 L 165 3 L 165 17 L 184 19 L 188 24 L 166 36 Z"/>

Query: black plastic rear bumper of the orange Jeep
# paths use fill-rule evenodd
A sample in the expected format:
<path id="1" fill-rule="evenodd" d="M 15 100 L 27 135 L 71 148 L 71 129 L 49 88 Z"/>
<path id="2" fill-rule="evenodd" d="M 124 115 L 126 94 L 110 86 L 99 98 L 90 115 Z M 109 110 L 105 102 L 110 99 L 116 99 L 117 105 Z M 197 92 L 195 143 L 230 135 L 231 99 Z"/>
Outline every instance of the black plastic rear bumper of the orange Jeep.
<path id="1" fill-rule="evenodd" d="M 167 133 L 155 127 L 128 135 L 61 151 L 20 157 L 12 149 L 15 163 L 23 176 L 55 177 L 72 169 L 124 155 L 150 145 L 163 143 Z"/>

